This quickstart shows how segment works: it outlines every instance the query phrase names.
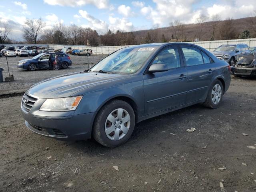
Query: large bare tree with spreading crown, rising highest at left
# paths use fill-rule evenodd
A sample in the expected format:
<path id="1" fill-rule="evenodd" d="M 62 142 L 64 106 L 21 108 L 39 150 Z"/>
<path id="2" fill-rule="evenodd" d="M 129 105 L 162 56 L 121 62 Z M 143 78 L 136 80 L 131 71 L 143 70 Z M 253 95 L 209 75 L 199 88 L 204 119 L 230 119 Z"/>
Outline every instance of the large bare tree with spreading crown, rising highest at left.
<path id="1" fill-rule="evenodd" d="M 45 22 L 41 18 L 35 19 L 26 19 L 25 24 L 22 26 L 23 38 L 34 44 L 38 43 L 40 36 L 43 33 Z"/>

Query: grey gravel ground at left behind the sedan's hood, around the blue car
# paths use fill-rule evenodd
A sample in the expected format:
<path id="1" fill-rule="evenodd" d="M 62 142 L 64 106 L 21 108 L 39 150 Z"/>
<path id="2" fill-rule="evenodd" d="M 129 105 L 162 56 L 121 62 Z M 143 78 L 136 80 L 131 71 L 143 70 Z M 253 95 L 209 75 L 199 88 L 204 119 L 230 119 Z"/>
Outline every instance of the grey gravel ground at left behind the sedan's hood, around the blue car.
<path id="1" fill-rule="evenodd" d="M 106 55 L 91 55 L 88 57 L 89 66 L 93 66 L 97 62 L 99 62 L 102 58 L 106 57 Z M 0 83 L 0 94 L 10 94 L 14 92 L 25 92 L 30 86 L 33 84 L 40 82 L 42 80 L 59 76 L 62 74 L 73 73 L 84 71 L 88 69 L 88 60 L 87 56 L 74 56 L 70 55 L 72 60 L 72 66 L 67 69 L 61 70 L 36 70 L 36 71 L 27 71 L 20 70 L 16 68 L 17 62 L 22 59 L 27 59 L 32 57 L 8 57 L 8 64 L 10 74 L 14 75 L 14 82 L 4 82 Z M 3 68 L 3 76 L 8 77 L 8 68 L 5 57 L 0 57 L 0 68 Z"/>

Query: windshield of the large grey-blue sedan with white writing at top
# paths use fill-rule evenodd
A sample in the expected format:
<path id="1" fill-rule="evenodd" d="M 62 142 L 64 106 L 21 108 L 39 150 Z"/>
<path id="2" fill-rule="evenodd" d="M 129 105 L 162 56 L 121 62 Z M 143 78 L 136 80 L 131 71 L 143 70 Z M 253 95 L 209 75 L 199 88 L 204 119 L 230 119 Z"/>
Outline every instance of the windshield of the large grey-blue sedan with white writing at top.
<path id="1" fill-rule="evenodd" d="M 98 62 L 90 71 L 133 74 L 144 65 L 153 50 L 152 47 L 120 49 Z"/>

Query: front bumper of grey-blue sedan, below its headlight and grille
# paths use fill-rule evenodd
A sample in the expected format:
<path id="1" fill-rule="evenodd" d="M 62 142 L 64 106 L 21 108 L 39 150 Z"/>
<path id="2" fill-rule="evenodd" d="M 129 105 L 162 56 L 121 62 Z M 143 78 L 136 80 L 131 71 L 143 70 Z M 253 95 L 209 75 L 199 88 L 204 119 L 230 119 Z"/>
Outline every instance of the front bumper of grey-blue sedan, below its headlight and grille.
<path id="1" fill-rule="evenodd" d="M 91 137 L 96 112 L 74 115 L 74 111 L 40 111 L 44 101 L 38 99 L 29 112 L 21 108 L 25 124 L 31 131 L 58 140 L 86 140 Z"/>

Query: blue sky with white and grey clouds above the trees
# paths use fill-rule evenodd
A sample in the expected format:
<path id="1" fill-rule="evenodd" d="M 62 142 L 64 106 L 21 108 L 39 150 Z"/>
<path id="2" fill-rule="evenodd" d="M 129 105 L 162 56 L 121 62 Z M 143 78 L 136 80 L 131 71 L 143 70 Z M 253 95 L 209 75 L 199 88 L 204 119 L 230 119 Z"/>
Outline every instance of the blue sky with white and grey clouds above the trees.
<path id="1" fill-rule="evenodd" d="M 56 22 L 107 30 L 136 31 L 169 26 L 170 22 L 195 23 L 200 14 L 243 18 L 252 16 L 256 0 L 12 0 L 0 4 L 0 23 L 13 28 L 11 39 L 22 40 L 26 18 L 42 18 L 46 29 Z"/>

